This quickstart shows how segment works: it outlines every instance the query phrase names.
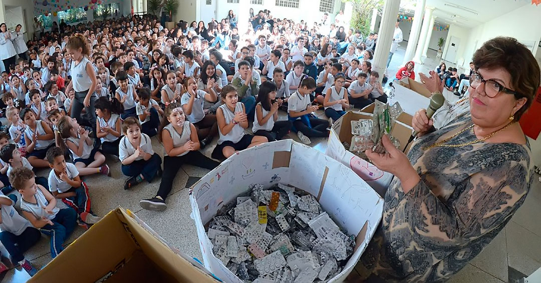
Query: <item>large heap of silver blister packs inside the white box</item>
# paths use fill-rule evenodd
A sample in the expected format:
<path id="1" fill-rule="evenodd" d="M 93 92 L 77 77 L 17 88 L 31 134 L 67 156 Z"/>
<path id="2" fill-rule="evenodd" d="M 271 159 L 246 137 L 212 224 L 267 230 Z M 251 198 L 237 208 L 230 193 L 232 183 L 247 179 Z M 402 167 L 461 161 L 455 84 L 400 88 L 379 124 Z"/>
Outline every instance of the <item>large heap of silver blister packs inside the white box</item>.
<path id="1" fill-rule="evenodd" d="M 246 282 L 326 282 L 355 246 L 306 192 L 251 185 L 209 223 L 213 252 Z"/>

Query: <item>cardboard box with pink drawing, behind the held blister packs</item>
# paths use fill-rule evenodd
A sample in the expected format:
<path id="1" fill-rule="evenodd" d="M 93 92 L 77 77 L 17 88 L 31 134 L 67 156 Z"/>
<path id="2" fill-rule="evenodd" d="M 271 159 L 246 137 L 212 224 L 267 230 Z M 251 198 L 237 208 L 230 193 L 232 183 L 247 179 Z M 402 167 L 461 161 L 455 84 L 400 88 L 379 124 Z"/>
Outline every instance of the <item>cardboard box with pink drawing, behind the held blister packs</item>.
<path id="1" fill-rule="evenodd" d="M 333 159 L 340 161 L 345 166 L 351 168 L 362 180 L 365 180 L 379 195 L 384 196 L 393 175 L 375 167 L 372 163 L 361 159 L 359 156 L 349 152 L 349 148 L 344 148 L 342 142 L 351 143 L 351 121 L 359 119 L 372 119 L 374 105 L 371 104 L 362 109 L 364 112 L 349 111 L 340 119 L 334 122 L 331 128 L 331 134 L 327 144 L 325 154 Z M 398 117 L 392 135 L 400 141 L 400 150 L 404 150 L 408 139 L 412 134 L 411 128 L 412 116 L 406 113 Z M 411 146 L 411 144 L 410 144 Z M 409 147 L 409 146 L 408 146 Z M 407 152 L 407 150 L 406 150 Z"/>

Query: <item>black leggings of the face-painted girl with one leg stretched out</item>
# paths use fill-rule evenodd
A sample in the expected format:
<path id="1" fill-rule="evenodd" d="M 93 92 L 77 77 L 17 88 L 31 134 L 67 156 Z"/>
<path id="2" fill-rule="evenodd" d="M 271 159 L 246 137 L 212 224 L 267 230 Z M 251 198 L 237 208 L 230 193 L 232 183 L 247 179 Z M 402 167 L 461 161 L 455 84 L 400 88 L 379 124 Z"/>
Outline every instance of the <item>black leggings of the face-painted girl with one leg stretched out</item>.
<path id="1" fill-rule="evenodd" d="M 220 165 L 220 162 L 204 156 L 197 150 L 188 152 L 182 156 L 164 156 L 162 182 L 160 183 L 160 189 L 158 189 L 156 196 L 160 196 L 163 200 L 167 198 L 167 195 L 173 188 L 173 181 L 175 180 L 176 173 L 179 172 L 182 164 L 190 164 L 212 170 Z"/>

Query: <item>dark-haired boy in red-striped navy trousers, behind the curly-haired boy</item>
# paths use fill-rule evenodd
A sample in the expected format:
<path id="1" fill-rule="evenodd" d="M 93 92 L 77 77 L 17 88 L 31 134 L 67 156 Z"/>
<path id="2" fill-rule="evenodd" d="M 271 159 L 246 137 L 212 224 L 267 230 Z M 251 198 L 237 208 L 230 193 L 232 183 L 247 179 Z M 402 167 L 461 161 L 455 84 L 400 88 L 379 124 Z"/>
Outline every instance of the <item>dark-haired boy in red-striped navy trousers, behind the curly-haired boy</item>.
<path id="1" fill-rule="evenodd" d="M 100 221 L 101 218 L 95 216 L 90 209 L 87 184 L 81 181 L 77 167 L 65 161 L 63 150 L 51 147 L 47 150 L 47 161 L 52 169 L 49 172 L 49 190 L 52 195 L 76 210 L 81 226 Z"/>

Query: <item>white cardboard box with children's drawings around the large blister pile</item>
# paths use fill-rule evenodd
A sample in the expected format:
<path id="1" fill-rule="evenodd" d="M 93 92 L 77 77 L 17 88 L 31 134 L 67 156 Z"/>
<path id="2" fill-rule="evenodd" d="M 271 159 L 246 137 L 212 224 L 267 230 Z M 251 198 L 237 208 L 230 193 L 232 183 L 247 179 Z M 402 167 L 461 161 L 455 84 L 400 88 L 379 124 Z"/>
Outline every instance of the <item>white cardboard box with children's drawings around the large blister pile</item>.
<path id="1" fill-rule="evenodd" d="M 351 169 L 292 140 L 242 150 L 190 189 L 192 216 L 205 266 L 224 282 L 242 282 L 214 256 L 205 227 L 219 209 L 247 192 L 250 184 L 262 183 L 269 188 L 276 182 L 312 194 L 339 226 L 357 235 L 353 255 L 344 270 L 329 282 L 345 280 L 379 225 L 383 200 Z"/>

